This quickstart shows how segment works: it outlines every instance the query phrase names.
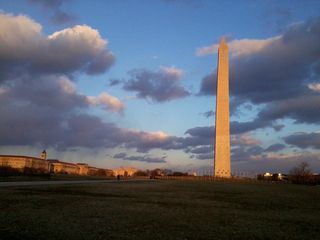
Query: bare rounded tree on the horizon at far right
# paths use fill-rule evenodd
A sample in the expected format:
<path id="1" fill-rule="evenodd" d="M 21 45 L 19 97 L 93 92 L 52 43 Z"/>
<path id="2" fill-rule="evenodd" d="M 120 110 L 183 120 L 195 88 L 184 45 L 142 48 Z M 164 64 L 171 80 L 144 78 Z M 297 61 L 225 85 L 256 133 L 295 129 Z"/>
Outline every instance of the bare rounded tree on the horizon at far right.
<path id="1" fill-rule="evenodd" d="M 313 174 L 307 162 L 302 162 L 292 168 L 289 173 L 289 179 L 292 183 L 297 184 L 312 184 Z"/>

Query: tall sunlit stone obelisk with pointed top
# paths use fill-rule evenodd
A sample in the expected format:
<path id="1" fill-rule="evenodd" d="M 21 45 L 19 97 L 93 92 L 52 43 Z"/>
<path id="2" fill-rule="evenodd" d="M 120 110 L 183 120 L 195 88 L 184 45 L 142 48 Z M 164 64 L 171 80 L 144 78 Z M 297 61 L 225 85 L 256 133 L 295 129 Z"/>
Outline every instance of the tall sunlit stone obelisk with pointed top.
<path id="1" fill-rule="evenodd" d="M 229 123 L 229 63 L 228 46 L 224 38 L 218 50 L 216 131 L 214 146 L 214 175 L 228 178 L 230 168 L 230 123 Z"/>

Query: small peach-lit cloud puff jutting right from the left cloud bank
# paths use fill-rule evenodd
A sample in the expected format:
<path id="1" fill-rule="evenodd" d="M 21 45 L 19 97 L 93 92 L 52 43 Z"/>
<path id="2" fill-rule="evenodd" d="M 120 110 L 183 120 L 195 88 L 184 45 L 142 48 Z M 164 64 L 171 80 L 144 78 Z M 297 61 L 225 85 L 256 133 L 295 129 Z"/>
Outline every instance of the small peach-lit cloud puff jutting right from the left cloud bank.
<path id="1" fill-rule="evenodd" d="M 116 97 L 109 95 L 106 92 L 101 93 L 99 96 L 88 96 L 87 101 L 93 106 L 102 106 L 106 110 L 113 112 L 122 112 L 124 104 Z"/>

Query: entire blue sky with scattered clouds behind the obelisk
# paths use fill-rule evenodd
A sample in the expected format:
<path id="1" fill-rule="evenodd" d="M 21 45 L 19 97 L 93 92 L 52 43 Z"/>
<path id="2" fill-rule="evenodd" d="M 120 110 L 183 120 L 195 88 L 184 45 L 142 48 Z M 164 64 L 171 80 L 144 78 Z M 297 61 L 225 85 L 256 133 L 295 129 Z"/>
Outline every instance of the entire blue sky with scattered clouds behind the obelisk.
<path id="1" fill-rule="evenodd" d="M 211 174 L 225 37 L 232 172 L 320 172 L 319 13 L 318 0 L 0 0 L 0 154 Z"/>

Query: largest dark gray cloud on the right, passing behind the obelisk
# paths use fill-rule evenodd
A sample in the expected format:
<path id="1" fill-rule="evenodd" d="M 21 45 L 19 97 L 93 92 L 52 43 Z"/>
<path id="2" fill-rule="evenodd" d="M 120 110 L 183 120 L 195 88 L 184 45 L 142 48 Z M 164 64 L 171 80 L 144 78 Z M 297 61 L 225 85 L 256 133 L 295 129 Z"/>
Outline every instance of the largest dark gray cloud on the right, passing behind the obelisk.
<path id="1" fill-rule="evenodd" d="M 297 122 L 319 122 L 319 96 L 308 88 L 308 83 L 320 77 L 319 39 L 320 18 L 314 18 L 290 26 L 281 36 L 262 40 L 259 50 L 253 45 L 262 43 L 255 41 L 242 52 L 233 47 L 230 93 L 238 106 L 246 101 L 265 104 L 259 121 L 289 117 Z M 204 77 L 200 93 L 214 95 L 215 85 L 216 73 Z"/>

